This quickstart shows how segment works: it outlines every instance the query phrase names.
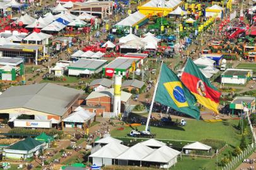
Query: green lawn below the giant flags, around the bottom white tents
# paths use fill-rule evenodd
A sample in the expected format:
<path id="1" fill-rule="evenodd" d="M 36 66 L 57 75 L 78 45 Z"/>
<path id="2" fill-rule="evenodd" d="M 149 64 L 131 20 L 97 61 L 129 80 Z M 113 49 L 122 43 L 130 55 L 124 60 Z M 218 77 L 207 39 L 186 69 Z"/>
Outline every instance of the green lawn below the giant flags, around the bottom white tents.
<path id="1" fill-rule="evenodd" d="M 236 129 L 239 120 L 224 120 L 223 122 L 207 123 L 202 120 L 187 120 L 185 127 L 151 127 L 151 132 L 156 133 L 156 139 L 169 140 L 189 140 L 201 141 L 202 139 L 218 139 L 224 140 L 228 147 L 223 150 L 218 156 L 225 156 L 229 150 L 233 150 L 235 146 L 240 144 L 241 135 Z M 144 130 L 144 126 L 137 127 L 139 130 Z M 112 137 L 126 137 L 127 133 L 132 130 L 131 127 L 125 127 L 124 130 L 113 130 Z M 182 142 L 183 143 L 183 142 Z M 188 142 L 189 143 L 189 142 Z M 172 170 L 204 170 L 216 169 L 216 157 L 212 159 L 201 157 L 182 157 L 182 161 L 171 168 Z M 219 167 L 221 169 L 221 167 Z"/>

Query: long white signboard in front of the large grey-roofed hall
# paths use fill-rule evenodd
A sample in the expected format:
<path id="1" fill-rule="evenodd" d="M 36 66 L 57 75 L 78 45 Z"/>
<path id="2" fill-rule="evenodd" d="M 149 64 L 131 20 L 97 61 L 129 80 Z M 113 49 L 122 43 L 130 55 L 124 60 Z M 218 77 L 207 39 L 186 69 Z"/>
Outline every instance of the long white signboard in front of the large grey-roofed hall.
<path id="1" fill-rule="evenodd" d="M 52 122 L 50 120 L 14 120 L 14 127 L 28 127 L 28 128 L 51 128 Z"/>

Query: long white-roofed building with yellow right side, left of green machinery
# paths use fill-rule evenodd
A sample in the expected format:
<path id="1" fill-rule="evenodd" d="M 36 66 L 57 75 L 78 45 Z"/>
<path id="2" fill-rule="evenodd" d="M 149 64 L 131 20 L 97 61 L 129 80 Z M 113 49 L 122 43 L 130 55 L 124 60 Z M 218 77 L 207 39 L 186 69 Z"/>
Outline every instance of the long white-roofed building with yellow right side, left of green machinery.
<path id="1" fill-rule="evenodd" d="M 148 17 L 139 11 L 136 13 L 130 14 L 124 20 L 120 21 L 119 23 L 115 24 L 116 26 L 135 26 L 135 25 L 143 25 L 145 21 L 148 20 Z"/>

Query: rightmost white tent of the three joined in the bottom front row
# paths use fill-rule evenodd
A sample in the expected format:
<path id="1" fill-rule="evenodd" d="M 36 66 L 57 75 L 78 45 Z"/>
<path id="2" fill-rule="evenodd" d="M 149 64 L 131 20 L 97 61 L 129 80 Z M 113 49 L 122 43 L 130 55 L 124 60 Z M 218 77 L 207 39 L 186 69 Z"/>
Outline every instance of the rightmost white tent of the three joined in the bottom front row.
<path id="1" fill-rule="evenodd" d="M 180 155 L 178 150 L 163 145 L 159 149 L 154 150 L 148 156 L 144 157 L 142 161 L 164 163 L 160 167 L 167 169 L 177 163 L 178 155 Z"/>

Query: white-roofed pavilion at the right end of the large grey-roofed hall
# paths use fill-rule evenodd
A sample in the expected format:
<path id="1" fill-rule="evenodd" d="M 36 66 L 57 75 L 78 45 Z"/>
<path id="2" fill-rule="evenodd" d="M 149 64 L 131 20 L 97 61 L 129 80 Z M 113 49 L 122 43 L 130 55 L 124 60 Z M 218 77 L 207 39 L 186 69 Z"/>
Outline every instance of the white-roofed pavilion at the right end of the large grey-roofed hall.
<path id="1" fill-rule="evenodd" d="M 71 115 L 67 116 L 62 120 L 65 122 L 65 127 L 78 127 L 78 128 L 85 128 L 90 126 L 90 124 L 95 119 L 95 113 L 91 113 L 88 110 L 78 110 L 72 113 Z"/>

